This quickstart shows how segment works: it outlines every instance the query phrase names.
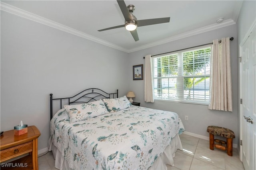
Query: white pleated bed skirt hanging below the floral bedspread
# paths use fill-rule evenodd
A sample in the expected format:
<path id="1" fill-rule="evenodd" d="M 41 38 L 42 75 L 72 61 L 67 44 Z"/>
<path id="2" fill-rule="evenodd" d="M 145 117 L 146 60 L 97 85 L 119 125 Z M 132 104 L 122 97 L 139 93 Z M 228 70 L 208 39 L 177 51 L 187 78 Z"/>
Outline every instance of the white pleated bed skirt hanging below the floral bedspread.
<path id="1" fill-rule="evenodd" d="M 182 150 L 182 144 L 180 137 L 177 134 L 173 139 L 172 143 L 166 147 L 164 152 L 155 160 L 154 164 L 148 168 L 148 170 L 167 170 L 167 166 L 174 166 L 173 157 L 177 149 Z M 60 170 L 72 170 L 68 166 L 68 162 L 61 155 L 61 152 L 53 145 L 52 141 L 49 139 L 49 151 L 52 151 L 55 159 L 55 168 Z"/>

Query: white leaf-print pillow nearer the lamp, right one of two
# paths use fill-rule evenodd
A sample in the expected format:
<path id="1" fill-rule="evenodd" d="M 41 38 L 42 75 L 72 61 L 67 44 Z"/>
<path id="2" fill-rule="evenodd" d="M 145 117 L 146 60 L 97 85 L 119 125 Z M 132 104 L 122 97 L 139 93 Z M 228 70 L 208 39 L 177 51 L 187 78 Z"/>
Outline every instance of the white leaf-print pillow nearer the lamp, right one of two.
<path id="1" fill-rule="evenodd" d="M 132 104 L 126 98 L 126 96 L 114 99 L 102 99 L 108 111 L 115 112 L 118 110 L 126 109 L 131 107 Z"/>

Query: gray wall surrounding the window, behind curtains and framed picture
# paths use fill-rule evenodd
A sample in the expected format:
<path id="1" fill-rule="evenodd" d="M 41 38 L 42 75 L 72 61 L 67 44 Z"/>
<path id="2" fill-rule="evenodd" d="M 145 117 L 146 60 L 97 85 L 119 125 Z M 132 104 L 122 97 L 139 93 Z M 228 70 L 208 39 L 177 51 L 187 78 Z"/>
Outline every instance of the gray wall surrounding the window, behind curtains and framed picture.
<path id="1" fill-rule="evenodd" d="M 144 64 L 143 56 L 151 54 L 156 55 L 169 51 L 175 51 L 196 45 L 202 45 L 212 42 L 214 39 L 221 39 L 222 37 L 234 37 L 230 41 L 231 49 L 231 71 L 232 71 L 232 94 L 233 94 L 233 111 L 213 111 L 208 109 L 206 105 L 185 104 L 178 102 L 168 102 L 155 100 L 154 103 L 144 102 L 144 80 L 130 80 L 130 90 L 135 92 L 136 98 L 134 101 L 141 102 L 141 106 L 150 107 L 154 109 L 163 109 L 167 111 L 174 111 L 180 115 L 186 131 L 198 135 L 209 136 L 206 129 L 209 125 L 217 125 L 232 129 L 235 135 L 238 135 L 238 85 L 237 85 L 237 37 L 236 24 L 227 27 L 208 31 L 184 39 L 172 41 L 148 49 L 143 49 L 129 54 L 130 67 L 132 65 Z M 188 115 L 188 121 L 185 121 L 185 115 Z M 237 144 L 237 139 L 233 141 Z"/>

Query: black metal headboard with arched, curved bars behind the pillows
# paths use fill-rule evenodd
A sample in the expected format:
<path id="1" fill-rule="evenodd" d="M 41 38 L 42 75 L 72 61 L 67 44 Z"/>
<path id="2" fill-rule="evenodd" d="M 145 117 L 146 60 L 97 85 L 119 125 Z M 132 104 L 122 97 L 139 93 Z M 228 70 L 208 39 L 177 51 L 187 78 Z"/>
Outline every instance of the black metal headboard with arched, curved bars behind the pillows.
<path id="1" fill-rule="evenodd" d="M 86 89 L 75 96 L 68 97 L 68 98 L 57 98 L 53 99 L 52 94 L 50 94 L 50 120 L 52 119 L 52 101 L 53 100 L 59 100 L 60 101 L 60 109 L 62 109 L 62 100 L 68 100 L 66 103 L 68 105 L 70 104 L 78 104 L 78 103 L 88 103 L 104 98 L 118 98 L 118 90 L 116 90 L 116 93 L 107 93 L 103 90 L 100 90 L 98 88 L 89 88 Z"/>

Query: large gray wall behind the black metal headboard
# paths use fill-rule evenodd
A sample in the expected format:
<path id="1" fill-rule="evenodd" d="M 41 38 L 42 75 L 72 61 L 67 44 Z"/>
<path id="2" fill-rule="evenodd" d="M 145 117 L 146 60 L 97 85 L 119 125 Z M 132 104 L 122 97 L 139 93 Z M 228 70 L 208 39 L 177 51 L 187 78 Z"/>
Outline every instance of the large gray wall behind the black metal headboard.
<path id="1" fill-rule="evenodd" d="M 1 131 L 23 123 L 50 136 L 49 94 L 128 92 L 128 54 L 1 10 Z M 130 68 L 129 68 L 130 69 Z"/>

